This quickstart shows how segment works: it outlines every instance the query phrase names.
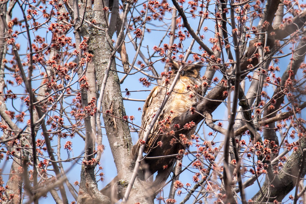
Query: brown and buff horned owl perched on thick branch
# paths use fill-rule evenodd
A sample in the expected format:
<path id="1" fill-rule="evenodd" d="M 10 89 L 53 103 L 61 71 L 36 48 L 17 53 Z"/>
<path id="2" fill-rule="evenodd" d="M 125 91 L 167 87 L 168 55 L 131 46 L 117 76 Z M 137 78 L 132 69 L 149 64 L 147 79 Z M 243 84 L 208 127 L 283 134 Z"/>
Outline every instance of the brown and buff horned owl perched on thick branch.
<path id="1" fill-rule="evenodd" d="M 151 130 L 151 134 L 149 135 L 147 142 L 145 145 L 144 153 L 150 156 L 162 156 L 165 154 L 177 154 L 177 148 L 169 147 L 169 139 L 167 138 L 167 143 L 163 142 L 162 138 L 167 137 L 166 132 L 167 127 L 171 124 L 171 120 L 179 115 L 180 113 L 184 113 L 186 110 L 190 109 L 193 104 L 199 101 L 199 98 L 202 95 L 202 80 L 200 77 L 200 69 L 201 65 L 186 65 L 183 70 L 180 72 L 180 77 L 177 80 L 177 83 L 174 86 L 170 97 L 162 109 L 161 114 L 159 115 L 157 121 L 154 124 L 154 127 Z M 141 128 L 139 132 L 139 139 L 132 148 L 131 156 L 134 157 L 134 161 L 136 161 L 138 156 L 138 150 L 141 145 L 146 129 L 150 125 L 155 113 L 161 106 L 166 94 L 169 91 L 171 83 L 174 80 L 174 76 L 177 74 L 179 69 L 179 65 L 177 63 L 172 63 L 172 69 L 170 76 L 167 77 L 162 83 L 158 86 L 155 86 L 149 96 L 144 103 L 143 112 L 142 112 L 142 121 Z M 188 132 L 187 137 L 194 133 L 194 128 Z M 173 136 L 169 136 L 173 137 Z M 161 145 L 162 144 L 162 145 Z M 161 147 L 166 149 L 167 153 L 160 152 Z M 173 150 L 172 150 L 173 149 Z M 173 152 L 172 152 L 173 151 Z M 162 155 L 160 155 L 162 153 Z M 152 161 L 153 162 L 153 161 Z M 159 161 L 158 161 L 159 162 Z M 154 163 L 154 162 L 153 162 Z M 153 170 L 155 168 L 150 168 L 151 173 L 153 174 Z M 152 172 L 153 171 L 153 172 Z"/>

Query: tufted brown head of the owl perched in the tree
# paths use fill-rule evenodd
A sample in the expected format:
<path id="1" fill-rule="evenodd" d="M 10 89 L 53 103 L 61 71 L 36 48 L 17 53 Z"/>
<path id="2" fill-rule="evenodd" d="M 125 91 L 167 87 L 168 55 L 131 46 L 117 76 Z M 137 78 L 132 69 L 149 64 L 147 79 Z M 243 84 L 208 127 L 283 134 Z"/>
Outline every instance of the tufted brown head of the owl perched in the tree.
<path id="1" fill-rule="evenodd" d="M 176 75 L 178 69 L 180 68 L 180 64 L 177 62 L 171 61 L 171 71 L 172 75 Z M 195 64 L 184 64 L 183 69 L 181 71 L 181 76 L 200 78 L 200 69 L 202 68 L 202 63 L 197 62 Z"/>

